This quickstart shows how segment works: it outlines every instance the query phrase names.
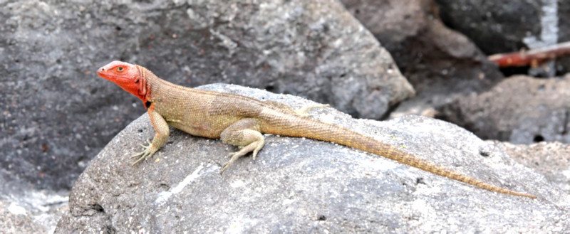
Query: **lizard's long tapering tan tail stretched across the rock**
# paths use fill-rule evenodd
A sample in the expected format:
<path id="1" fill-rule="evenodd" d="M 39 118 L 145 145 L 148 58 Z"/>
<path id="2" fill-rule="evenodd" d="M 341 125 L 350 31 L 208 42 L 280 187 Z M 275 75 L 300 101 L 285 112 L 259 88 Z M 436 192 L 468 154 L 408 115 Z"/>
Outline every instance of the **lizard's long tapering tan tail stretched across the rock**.
<path id="1" fill-rule="evenodd" d="M 291 117 L 280 120 L 288 123 L 285 124 L 284 122 L 277 121 L 272 124 L 268 124 L 269 126 L 279 127 L 264 127 L 263 132 L 289 137 L 306 137 L 311 139 L 318 139 L 324 142 L 343 144 L 347 147 L 353 147 L 356 149 L 361 149 L 363 151 L 371 152 L 373 154 L 378 154 L 380 156 L 385 156 L 388 159 L 400 161 L 403 164 L 408 164 L 410 166 L 417 167 L 418 169 L 429 171 L 433 174 L 445 176 L 457 181 L 462 181 L 465 184 L 471 184 L 473 186 L 484 188 L 489 191 L 506 193 L 514 196 L 524 196 L 527 198 L 537 198 L 537 196 L 526 193 L 518 193 L 507 188 L 501 188 L 492 184 L 487 184 L 470 176 L 465 176 L 457 171 L 452 171 L 450 169 L 446 169 L 445 167 L 438 166 L 437 164 L 434 164 L 430 161 L 420 159 L 417 156 L 400 150 L 397 147 L 393 147 L 390 144 L 379 142 L 372 137 L 367 137 L 363 134 L 353 132 L 343 127 L 318 122 L 314 119 L 304 117 Z"/>

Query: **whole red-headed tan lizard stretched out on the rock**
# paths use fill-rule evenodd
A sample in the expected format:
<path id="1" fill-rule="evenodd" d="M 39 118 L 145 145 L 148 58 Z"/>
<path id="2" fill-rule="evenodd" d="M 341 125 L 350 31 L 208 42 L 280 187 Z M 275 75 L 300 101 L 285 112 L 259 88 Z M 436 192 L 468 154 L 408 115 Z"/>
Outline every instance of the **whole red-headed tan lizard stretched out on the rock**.
<path id="1" fill-rule="evenodd" d="M 149 159 L 166 143 L 170 134 L 168 125 L 195 136 L 220 138 L 222 142 L 239 147 L 239 151 L 230 154 L 232 159 L 224 164 L 222 172 L 249 152 L 253 152 L 255 159 L 257 152 L 264 146 L 262 133 L 269 133 L 335 142 L 489 191 L 537 198 L 445 169 L 349 129 L 304 117 L 284 104 L 175 85 L 157 78 L 146 68 L 120 61 L 99 68 L 97 74 L 139 97 L 147 108 L 156 134 L 148 146 L 142 146 L 144 151 L 133 156 L 138 158 L 134 164 Z"/>

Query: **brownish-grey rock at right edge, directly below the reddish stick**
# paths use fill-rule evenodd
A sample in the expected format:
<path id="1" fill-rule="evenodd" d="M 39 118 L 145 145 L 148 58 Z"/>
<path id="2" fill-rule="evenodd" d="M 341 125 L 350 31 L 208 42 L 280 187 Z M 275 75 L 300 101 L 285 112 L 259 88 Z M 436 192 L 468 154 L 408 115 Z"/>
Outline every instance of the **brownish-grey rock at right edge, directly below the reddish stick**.
<path id="1" fill-rule="evenodd" d="M 440 118 L 482 139 L 514 144 L 570 142 L 570 74 L 563 78 L 507 78 L 481 95 L 442 107 Z"/>

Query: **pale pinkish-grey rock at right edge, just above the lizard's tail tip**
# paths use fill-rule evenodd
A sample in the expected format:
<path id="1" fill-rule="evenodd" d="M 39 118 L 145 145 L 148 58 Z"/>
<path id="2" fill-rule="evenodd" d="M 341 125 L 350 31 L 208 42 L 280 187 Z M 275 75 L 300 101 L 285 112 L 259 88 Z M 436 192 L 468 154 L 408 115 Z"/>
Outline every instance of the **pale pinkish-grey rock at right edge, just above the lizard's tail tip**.
<path id="1" fill-rule="evenodd" d="M 528 166 L 546 176 L 552 184 L 570 193 L 570 145 L 560 142 L 540 142 L 537 144 L 511 144 L 494 141 L 499 149 L 507 152 L 524 166 Z"/>

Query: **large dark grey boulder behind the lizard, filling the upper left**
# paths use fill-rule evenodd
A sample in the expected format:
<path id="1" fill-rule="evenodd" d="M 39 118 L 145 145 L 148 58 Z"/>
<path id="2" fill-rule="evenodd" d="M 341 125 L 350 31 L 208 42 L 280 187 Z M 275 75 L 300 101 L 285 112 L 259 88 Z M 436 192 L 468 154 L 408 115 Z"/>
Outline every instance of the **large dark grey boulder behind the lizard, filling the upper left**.
<path id="1" fill-rule="evenodd" d="M 111 60 L 174 83 L 236 83 L 378 118 L 413 94 L 390 54 L 334 0 L 0 1 L 0 167 L 70 188 L 144 113 L 101 80 Z"/>

